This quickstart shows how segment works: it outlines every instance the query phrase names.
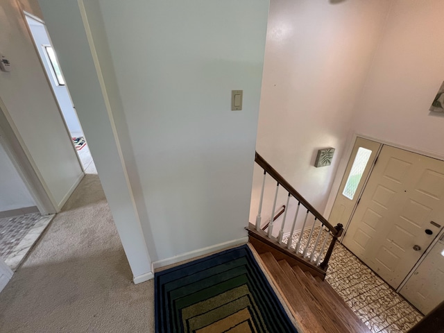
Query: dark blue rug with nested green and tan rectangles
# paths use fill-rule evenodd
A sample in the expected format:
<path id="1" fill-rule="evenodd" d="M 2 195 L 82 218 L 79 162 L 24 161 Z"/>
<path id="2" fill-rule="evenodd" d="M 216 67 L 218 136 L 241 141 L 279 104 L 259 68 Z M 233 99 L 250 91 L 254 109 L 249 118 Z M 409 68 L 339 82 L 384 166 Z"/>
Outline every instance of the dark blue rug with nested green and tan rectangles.
<path id="1" fill-rule="evenodd" d="M 295 332 L 248 246 L 155 273 L 156 332 Z"/>

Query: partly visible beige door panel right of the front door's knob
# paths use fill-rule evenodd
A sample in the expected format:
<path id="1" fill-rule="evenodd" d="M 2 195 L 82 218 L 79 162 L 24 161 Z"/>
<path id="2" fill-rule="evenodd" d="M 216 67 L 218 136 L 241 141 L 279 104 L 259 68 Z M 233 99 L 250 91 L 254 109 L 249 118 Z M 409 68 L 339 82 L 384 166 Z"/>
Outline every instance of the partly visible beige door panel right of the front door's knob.
<path id="1" fill-rule="evenodd" d="M 444 235 L 416 268 L 400 294 L 423 314 L 444 300 Z"/>

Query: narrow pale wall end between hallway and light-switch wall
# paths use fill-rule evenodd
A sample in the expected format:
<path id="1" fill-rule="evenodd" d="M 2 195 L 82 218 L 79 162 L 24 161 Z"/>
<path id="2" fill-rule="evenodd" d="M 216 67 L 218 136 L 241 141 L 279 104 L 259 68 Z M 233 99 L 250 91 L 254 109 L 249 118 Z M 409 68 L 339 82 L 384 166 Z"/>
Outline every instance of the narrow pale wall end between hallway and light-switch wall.
<path id="1" fill-rule="evenodd" d="M 135 283 L 153 278 L 119 133 L 83 3 L 39 0 Z M 80 7 L 79 7 L 80 6 Z M 94 17 L 94 15 L 93 15 Z M 92 25 L 99 22 L 92 22 Z M 75 50 L 75 51 L 73 51 Z"/>

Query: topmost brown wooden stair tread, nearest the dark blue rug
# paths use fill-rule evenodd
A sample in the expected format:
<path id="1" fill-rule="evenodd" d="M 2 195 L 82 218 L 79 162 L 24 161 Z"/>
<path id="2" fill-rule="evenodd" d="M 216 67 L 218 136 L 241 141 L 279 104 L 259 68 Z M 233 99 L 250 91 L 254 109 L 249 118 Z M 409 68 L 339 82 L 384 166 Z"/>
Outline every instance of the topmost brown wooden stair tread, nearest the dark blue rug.
<path id="1" fill-rule="evenodd" d="M 280 268 L 275 257 L 271 253 L 262 253 L 259 255 L 268 268 L 268 273 L 273 277 L 275 285 L 280 289 L 282 297 L 287 301 L 296 321 L 302 326 L 304 332 L 326 332 L 321 325 L 318 325 L 316 316 L 309 309 L 305 301 L 303 300 L 300 290 L 296 289 L 293 282 L 287 278 L 282 268 Z M 292 304 L 299 304 L 298 307 L 292 307 Z"/>

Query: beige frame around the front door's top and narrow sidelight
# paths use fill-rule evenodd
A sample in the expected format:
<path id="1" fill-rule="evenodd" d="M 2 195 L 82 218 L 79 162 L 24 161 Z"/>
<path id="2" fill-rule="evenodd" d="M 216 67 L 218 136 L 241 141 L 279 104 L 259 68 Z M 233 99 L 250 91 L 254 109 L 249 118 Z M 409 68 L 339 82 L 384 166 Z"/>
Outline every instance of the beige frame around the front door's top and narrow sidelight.
<path id="1" fill-rule="evenodd" d="M 332 208 L 333 208 L 333 205 L 334 205 L 334 200 L 336 200 L 336 196 L 339 194 L 339 188 L 341 187 L 341 182 L 342 182 L 342 180 L 343 180 L 343 178 L 345 176 L 345 171 L 347 169 L 347 165 L 348 165 L 348 162 L 350 161 L 350 157 L 351 157 L 351 154 L 352 154 L 352 151 L 353 151 L 353 147 L 355 146 L 355 142 L 356 142 L 356 139 L 358 137 L 361 137 L 362 139 L 368 139 L 368 140 L 371 140 L 371 141 L 374 141 L 374 142 L 378 142 L 379 144 L 381 144 L 381 147 L 379 148 L 379 151 L 377 152 L 375 160 L 377 160 L 377 158 L 379 157 L 379 153 L 381 153 L 382 147 L 385 145 L 385 146 L 392 146 L 394 148 L 400 148 L 400 149 L 402 149 L 404 151 L 409 151 L 411 153 L 416 153 L 416 154 L 419 154 L 419 155 L 424 155 L 424 156 L 427 156 L 427 157 L 432 157 L 432 158 L 434 158 L 436 160 L 444 161 L 444 155 L 439 155 L 439 154 L 436 154 L 436 153 L 432 153 L 430 151 L 424 151 L 424 150 L 418 149 L 418 148 L 412 148 L 412 147 L 409 147 L 409 146 L 404 146 L 402 144 L 396 144 L 394 142 L 389 142 L 389 141 L 384 140 L 384 139 L 379 139 L 379 138 L 376 138 L 376 137 L 371 137 L 370 135 L 364 135 L 364 134 L 360 134 L 360 133 L 353 133 L 352 138 L 350 139 L 350 142 L 348 144 L 347 151 L 345 151 L 345 154 L 343 155 L 342 160 L 340 162 L 340 165 L 338 167 L 338 171 L 336 171 L 336 176 L 334 178 L 334 183 L 333 183 L 333 186 L 332 186 L 332 191 L 330 191 L 330 197 L 328 199 L 328 207 L 325 210 L 325 216 L 330 216 L 330 213 L 332 212 Z M 370 176 L 371 176 L 371 174 L 373 172 L 373 168 L 374 167 L 375 167 L 375 164 L 373 164 L 373 166 L 371 167 L 370 172 L 368 173 L 368 176 L 366 177 L 366 180 L 364 181 L 364 186 L 362 187 L 362 189 L 361 189 L 361 191 L 359 193 L 358 200 L 356 201 L 355 207 L 352 210 L 352 214 L 350 214 L 350 218 L 348 219 L 347 224 L 344 225 L 344 232 L 343 232 L 342 236 L 339 238 L 339 241 L 341 242 L 341 244 L 342 244 L 342 241 L 343 241 L 343 238 L 344 238 L 345 234 L 347 233 L 347 230 L 348 230 L 348 227 L 350 225 L 350 221 L 352 220 L 353 214 L 355 214 L 357 205 L 359 203 L 359 199 L 361 198 L 362 194 L 364 194 L 364 191 L 366 189 L 366 185 L 367 185 L 368 179 L 370 178 Z M 404 282 L 402 282 L 402 283 L 404 283 Z"/>

